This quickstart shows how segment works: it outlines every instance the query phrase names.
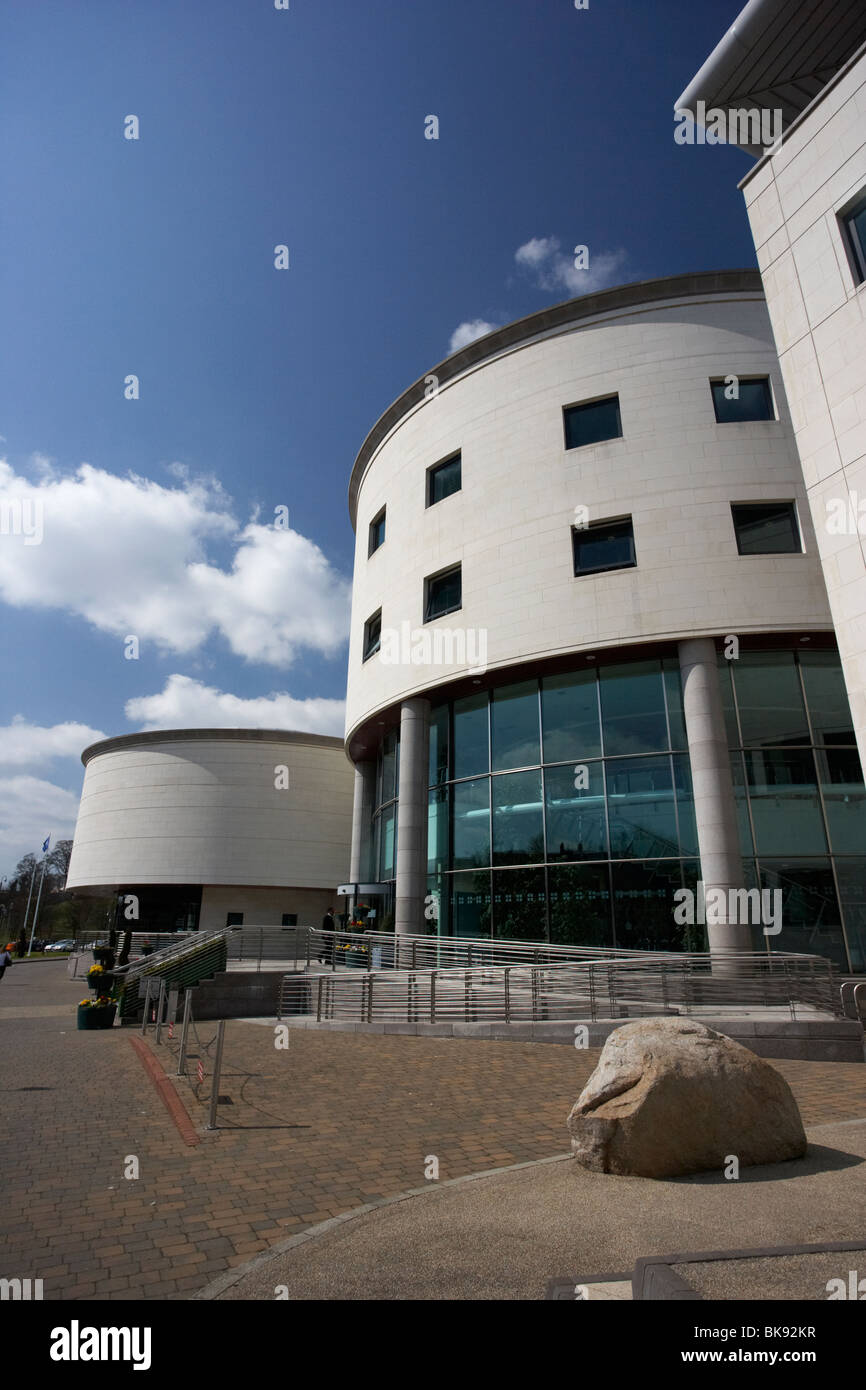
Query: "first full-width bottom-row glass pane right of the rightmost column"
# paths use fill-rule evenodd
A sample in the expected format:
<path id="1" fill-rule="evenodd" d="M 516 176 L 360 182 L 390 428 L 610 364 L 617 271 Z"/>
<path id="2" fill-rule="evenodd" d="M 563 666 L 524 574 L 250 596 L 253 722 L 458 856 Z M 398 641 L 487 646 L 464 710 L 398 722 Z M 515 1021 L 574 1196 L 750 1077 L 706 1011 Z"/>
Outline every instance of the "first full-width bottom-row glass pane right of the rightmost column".
<path id="1" fill-rule="evenodd" d="M 823 955 L 848 969 L 828 859 L 762 859 L 760 887 L 781 892 L 781 931 L 767 938 L 773 951 Z"/>

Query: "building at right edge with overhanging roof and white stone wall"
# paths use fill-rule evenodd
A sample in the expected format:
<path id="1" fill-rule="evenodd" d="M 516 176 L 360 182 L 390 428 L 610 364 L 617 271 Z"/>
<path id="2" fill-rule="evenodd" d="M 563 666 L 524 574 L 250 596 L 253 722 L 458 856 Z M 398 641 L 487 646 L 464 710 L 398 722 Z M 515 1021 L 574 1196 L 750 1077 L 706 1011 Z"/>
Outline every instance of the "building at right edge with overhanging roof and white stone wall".
<path id="1" fill-rule="evenodd" d="M 778 113 L 733 143 L 866 760 L 866 4 L 751 0 L 677 108 Z"/>

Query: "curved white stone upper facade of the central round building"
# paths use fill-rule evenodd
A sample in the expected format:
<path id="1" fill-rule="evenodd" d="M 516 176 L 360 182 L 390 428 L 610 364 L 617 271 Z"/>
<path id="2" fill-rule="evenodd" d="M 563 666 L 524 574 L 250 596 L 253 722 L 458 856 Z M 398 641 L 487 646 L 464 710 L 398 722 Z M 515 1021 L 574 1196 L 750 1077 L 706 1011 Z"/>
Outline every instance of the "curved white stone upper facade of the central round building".
<path id="1" fill-rule="evenodd" d="M 670 297 L 659 297 L 663 282 L 652 293 L 624 286 L 589 317 L 575 300 L 573 321 L 546 332 L 534 316 L 523 339 L 498 348 L 493 335 L 487 357 L 361 452 L 350 749 L 378 713 L 471 673 L 468 660 L 416 666 L 379 652 L 363 662 L 364 623 L 378 609 L 384 631 L 482 631 L 489 670 L 638 642 L 831 628 L 760 281 L 734 278 L 728 291 L 712 288 L 724 275 L 689 277 L 689 292 Z M 730 374 L 769 377 L 778 418 L 717 424 L 710 379 Z M 623 438 L 566 449 L 563 407 L 610 393 Z M 457 450 L 461 489 L 425 506 L 427 470 Z M 731 503 L 788 499 L 803 553 L 741 556 Z M 368 556 L 382 507 L 385 542 Z M 575 577 L 575 507 L 589 521 L 631 514 L 637 567 Z M 455 563 L 461 609 L 425 626 L 424 581 Z"/>

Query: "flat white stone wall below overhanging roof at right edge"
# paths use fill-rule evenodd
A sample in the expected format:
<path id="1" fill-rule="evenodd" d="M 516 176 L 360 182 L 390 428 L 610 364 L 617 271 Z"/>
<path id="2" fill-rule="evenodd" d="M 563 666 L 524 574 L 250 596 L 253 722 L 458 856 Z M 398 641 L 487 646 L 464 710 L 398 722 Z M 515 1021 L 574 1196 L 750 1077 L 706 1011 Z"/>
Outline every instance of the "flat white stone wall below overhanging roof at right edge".
<path id="1" fill-rule="evenodd" d="M 840 221 L 866 195 L 865 50 L 741 188 L 866 766 L 866 284 Z"/>

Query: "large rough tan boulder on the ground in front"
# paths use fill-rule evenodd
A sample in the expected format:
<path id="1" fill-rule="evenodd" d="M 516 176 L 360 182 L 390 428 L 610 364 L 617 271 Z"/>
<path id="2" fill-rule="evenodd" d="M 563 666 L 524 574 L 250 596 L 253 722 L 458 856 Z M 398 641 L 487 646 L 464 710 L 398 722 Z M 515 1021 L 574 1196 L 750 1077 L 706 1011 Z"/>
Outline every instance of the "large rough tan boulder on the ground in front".
<path id="1" fill-rule="evenodd" d="M 785 1079 L 694 1019 L 641 1019 L 607 1038 L 569 1116 L 571 1151 L 599 1173 L 677 1177 L 802 1158 Z"/>

